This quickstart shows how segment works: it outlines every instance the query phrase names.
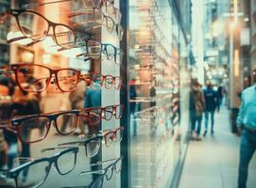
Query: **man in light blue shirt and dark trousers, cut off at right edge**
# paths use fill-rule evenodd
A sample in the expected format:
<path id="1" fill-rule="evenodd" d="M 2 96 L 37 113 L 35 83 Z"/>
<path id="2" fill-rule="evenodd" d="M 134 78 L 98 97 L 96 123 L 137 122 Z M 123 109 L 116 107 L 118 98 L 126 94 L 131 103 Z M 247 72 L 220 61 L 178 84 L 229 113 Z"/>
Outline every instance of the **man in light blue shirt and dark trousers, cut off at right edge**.
<path id="1" fill-rule="evenodd" d="M 253 80 L 256 82 L 256 70 L 253 70 Z M 256 149 L 256 85 L 242 91 L 241 106 L 236 123 L 238 134 L 242 135 L 240 143 L 240 159 L 238 170 L 238 188 L 247 187 L 248 164 Z M 243 128 L 243 131 L 242 131 Z"/>

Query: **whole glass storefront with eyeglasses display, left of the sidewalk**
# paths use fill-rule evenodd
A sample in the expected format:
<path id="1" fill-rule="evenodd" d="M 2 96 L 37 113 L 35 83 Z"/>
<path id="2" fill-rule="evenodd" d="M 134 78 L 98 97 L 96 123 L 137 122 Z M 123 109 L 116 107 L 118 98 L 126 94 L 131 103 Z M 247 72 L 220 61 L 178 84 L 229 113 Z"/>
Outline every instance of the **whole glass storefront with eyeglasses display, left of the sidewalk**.
<path id="1" fill-rule="evenodd" d="M 3 4 L 0 187 L 176 187 L 190 49 L 173 2 Z"/>

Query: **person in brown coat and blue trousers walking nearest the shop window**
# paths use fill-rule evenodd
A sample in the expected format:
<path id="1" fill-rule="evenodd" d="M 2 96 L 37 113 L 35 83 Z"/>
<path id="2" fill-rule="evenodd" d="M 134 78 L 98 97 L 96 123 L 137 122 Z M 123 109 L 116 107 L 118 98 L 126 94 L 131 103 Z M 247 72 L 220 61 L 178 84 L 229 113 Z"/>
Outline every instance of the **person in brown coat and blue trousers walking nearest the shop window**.
<path id="1" fill-rule="evenodd" d="M 190 118 L 191 118 L 191 130 L 192 138 L 196 140 L 201 140 L 201 122 L 202 115 L 204 112 L 205 100 L 204 95 L 201 90 L 201 86 L 196 82 L 190 91 Z M 197 124 L 197 128 L 196 128 Z"/>

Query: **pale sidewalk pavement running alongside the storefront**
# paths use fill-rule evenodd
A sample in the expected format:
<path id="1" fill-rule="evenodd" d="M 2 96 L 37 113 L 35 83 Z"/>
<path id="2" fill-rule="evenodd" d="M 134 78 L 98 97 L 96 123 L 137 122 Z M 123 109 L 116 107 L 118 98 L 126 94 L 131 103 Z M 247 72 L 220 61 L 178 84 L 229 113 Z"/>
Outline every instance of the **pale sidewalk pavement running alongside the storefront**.
<path id="1" fill-rule="evenodd" d="M 204 121 L 202 122 L 202 133 Z M 215 114 L 215 133 L 191 141 L 179 188 L 236 188 L 240 138 L 230 133 L 229 112 Z M 256 154 L 249 164 L 247 188 L 256 187 Z"/>

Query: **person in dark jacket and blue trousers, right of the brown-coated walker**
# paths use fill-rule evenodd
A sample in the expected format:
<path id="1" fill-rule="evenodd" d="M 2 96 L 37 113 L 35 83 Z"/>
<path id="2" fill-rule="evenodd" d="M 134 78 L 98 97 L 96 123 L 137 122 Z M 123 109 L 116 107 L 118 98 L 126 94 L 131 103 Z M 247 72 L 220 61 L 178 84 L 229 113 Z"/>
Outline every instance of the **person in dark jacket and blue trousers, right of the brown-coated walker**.
<path id="1" fill-rule="evenodd" d="M 209 122 L 209 114 L 211 115 L 211 133 L 214 133 L 214 112 L 218 103 L 217 92 L 213 90 L 213 85 L 211 82 L 207 84 L 207 88 L 204 90 L 204 99 L 205 99 L 205 131 L 204 136 L 206 136 L 208 132 L 208 122 Z"/>

